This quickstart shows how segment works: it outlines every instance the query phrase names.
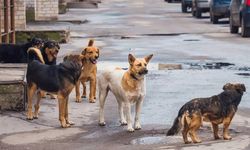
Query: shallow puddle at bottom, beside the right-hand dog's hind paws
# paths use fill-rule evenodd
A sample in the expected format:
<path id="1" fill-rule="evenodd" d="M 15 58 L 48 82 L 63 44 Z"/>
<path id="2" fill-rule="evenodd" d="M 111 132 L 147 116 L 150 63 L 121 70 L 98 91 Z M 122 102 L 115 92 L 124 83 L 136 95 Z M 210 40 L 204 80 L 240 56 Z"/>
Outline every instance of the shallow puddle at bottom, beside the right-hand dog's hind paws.
<path id="1" fill-rule="evenodd" d="M 151 145 L 151 144 L 170 144 L 176 143 L 182 140 L 181 136 L 165 136 L 165 135 L 157 135 L 157 136 L 147 136 L 134 139 L 130 142 L 132 145 Z"/>

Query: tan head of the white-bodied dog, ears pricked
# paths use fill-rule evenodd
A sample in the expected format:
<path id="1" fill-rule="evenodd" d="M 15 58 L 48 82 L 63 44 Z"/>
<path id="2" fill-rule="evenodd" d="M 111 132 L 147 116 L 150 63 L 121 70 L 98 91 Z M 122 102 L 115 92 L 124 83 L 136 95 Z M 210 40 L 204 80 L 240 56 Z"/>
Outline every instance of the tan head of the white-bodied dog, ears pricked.
<path id="1" fill-rule="evenodd" d="M 148 55 L 144 58 L 136 58 L 134 55 L 129 54 L 128 55 L 128 62 L 129 62 L 129 69 L 131 72 L 131 75 L 135 78 L 141 78 L 144 75 L 148 73 L 147 65 L 151 58 L 153 57 L 153 54 Z"/>

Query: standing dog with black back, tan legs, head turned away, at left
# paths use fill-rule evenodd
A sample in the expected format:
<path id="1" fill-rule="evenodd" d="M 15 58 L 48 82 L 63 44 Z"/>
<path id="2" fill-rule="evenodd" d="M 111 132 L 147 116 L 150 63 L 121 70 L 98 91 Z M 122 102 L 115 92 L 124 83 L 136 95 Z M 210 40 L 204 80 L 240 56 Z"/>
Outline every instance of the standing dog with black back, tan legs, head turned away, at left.
<path id="1" fill-rule="evenodd" d="M 59 120 L 63 128 L 73 123 L 68 118 L 68 98 L 78 81 L 83 55 L 69 55 L 59 65 L 46 65 L 39 61 L 32 61 L 27 68 L 28 109 L 27 119 L 38 118 L 41 100 L 41 90 L 57 94 L 59 103 Z M 37 91 L 35 112 L 32 112 L 32 98 Z"/>

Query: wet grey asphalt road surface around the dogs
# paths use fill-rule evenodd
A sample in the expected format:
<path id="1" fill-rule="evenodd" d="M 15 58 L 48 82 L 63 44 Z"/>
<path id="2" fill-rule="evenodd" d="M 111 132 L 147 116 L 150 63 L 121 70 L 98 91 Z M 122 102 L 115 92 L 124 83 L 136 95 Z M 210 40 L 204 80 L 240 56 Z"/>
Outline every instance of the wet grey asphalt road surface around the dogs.
<path id="1" fill-rule="evenodd" d="M 143 129 L 129 134 L 125 127 L 120 127 L 112 94 L 105 107 L 107 126 L 99 127 L 98 102 L 89 104 L 85 100 L 76 104 L 73 92 L 70 117 L 75 127 L 60 129 L 57 102 L 44 100 L 38 120 L 26 121 L 25 112 L 1 115 L 0 121 L 4 124 L 0 125 L 0 149 L 248 149 L 248 92 L 240 104 L 242 110 L 247 109 L 231 126 L 235 140 L 215 142 L 206 128 L 202 129 L 201 137 L 208 142 L 198 147 L 183 145 L 180 136 L 164 136 L 186 101 L 218 94 L 227 82 L 242 82 L 247 89 L 250 87 L 250 39 L 230 34 L 227 19 L 212 25 L 206 17 L 208 14 L 197 20 L 191 14 L 180 12 L 180 4 L 168 4 L 163 0 L 104 0 L 98 9 L 71 9 L 59 18 L 65 21 L 87 19 L 85 24 L 30 25 L 30 28 L 51 26 L 71 30 L 71 40 L 62 45 L 59 60 L 68 53 L 79 53 L 88 39 L 94 38 L 101 49 L 99 71 L 111 66 L 127 67 L 128 53 L 138 57 L 153 53 L 141 115 Z M 213 65 L 216 63 L 232 65 Z M 182 69 L 161 70 L 159 64 L 180 64 Z M 22 141 L 23 137 L 27 140 L 18 145 L 17 141 Z M 241 147 L 235 143 L 242 143 Z"/>

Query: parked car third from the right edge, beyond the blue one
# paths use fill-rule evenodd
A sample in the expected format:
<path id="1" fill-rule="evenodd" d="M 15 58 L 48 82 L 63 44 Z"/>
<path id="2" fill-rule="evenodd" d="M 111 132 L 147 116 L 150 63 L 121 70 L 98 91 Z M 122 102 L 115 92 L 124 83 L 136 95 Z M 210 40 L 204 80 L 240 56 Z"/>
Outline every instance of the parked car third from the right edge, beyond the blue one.
<path id="1" fill-rule="evenodd" d="M 201 18 L 204 12 L 209 12 L 209 0 L 192 0 L 192 15 Z"/>

